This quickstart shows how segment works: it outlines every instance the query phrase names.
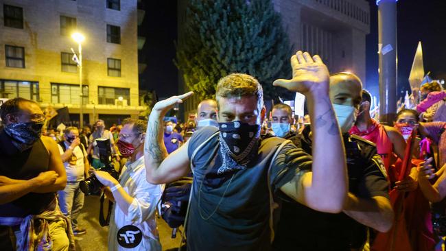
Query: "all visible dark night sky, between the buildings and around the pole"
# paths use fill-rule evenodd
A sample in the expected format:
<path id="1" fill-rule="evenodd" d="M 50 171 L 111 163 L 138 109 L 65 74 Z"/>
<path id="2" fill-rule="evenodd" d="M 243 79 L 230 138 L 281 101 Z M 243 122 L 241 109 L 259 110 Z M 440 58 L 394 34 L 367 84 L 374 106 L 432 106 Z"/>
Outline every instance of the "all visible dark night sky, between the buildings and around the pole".
<path id="1" fill-rule="evenodd" d="M 377 5 L 371 3 L 371 33 L 366 36 L 366 86 L 378 94 Z M 176 40 L 176 1 L 146 1 L 140 31 L 146 42 L 140 57 L 148 67 L 141 74 L 140 88 L 154 89 L 159 97 L 178 94 L 178 72 L 173 63 Z M 398 90 L 409 90 L 408 77 L 416 45 L 421 40 L 425 71 L 434 79 L 446 79 L 446 1 L 399 0 L 397 3 Z"/>

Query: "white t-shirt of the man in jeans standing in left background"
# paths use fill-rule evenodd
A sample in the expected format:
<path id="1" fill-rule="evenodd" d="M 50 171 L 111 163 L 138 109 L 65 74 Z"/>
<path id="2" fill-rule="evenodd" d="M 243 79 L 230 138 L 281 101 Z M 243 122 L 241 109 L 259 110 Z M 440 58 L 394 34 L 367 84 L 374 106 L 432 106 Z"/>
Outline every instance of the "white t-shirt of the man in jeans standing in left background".
<path id="1" fill-rule="evenodd" d="M 67 141 L 63 142 L 65 144 L 65 149 L 68 150 L 70 144 Z M 58 144 L 59 152 L 62 155 L 64 150 Z M 84 154 L 82 154 L 84 152 Z M 84 156 L 86 156 L 86 151 L 80 147 L 80 145 L 74 147 L 73 154 L 71 157 L 64 162 L 65 170 L 67 171 L 67 181 L 80 181 L 84 180 Z"/>

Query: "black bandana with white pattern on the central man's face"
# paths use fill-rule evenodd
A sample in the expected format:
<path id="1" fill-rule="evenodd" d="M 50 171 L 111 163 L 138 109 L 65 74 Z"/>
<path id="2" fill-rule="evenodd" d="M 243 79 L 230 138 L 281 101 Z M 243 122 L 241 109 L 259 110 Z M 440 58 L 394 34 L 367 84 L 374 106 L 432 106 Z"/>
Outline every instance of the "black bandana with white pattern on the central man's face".
<path id="1" fill-rule="evenodd" d="M 253 153 L 257 153 L 260 125 L 249 125 L 241 121 L 218 123 L 220 128 L 220 151 L 224 161 L 218 173 L 224 173 L 235 166 L 246 166 Z M 226 161 L 226 155 L 232 160 Z M 231 164 L 232 163 L 232 164 Z M 231 165 L 229 165 L 231 164 Z"/>

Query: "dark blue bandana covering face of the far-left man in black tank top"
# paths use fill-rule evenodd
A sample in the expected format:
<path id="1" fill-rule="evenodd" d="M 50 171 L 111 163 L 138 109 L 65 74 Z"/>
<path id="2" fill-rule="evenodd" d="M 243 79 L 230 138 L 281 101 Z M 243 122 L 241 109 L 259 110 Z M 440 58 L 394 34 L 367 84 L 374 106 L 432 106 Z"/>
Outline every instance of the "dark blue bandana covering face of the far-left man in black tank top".
<path id="1" fill-rule="evenodd" d="M 5 126 L 5 132 L 13 139 L 12 143 L 23 152 L 40 139 L 42 128 L 43 123 L 10 123 Z"/>

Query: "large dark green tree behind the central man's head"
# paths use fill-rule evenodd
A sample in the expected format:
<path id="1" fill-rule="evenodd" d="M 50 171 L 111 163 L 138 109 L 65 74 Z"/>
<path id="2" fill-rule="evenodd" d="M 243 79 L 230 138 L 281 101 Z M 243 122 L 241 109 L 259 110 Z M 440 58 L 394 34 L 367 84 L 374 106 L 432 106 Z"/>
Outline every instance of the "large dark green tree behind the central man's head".
<path id="1" fill-rule="evenodd" d="M 189 0 L 185 39 L 176 66 L 200 99 L 215 98 L 218 80 L 229 73 L 253 75 L 266 99 L 292 93 L 272 86 L 291 75 L 290 43 L 270 0 Z"/>

